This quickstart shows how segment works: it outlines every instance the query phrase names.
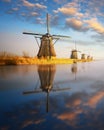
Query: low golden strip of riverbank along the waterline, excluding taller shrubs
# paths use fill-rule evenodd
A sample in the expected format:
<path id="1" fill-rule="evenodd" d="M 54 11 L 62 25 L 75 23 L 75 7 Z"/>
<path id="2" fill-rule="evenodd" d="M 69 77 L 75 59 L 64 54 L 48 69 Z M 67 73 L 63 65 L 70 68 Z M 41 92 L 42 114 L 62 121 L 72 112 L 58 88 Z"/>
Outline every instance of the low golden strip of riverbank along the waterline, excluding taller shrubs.
<path id="1" fill-rule="evenodd" d="M 75 62 L 90 62 L 91 59 L 38 59 L 38 58 L 24 58 L 24 57 L 12 57 L 12 58 L 0 58 L 0 65 L 33 65 L 33 64 L 72 64 Z"/>

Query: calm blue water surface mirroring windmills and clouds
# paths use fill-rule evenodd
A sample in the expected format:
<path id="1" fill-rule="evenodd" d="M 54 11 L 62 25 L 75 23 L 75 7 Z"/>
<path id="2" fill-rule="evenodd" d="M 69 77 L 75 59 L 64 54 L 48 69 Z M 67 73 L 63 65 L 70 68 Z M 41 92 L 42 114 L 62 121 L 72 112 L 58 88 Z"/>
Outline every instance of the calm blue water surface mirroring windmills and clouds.
<path id="1" fill-rule="evenodd" d="M 0 130 L 104 130 L 104 62 L 0 67 Z"/>

